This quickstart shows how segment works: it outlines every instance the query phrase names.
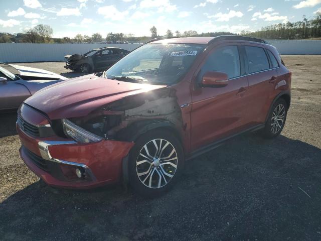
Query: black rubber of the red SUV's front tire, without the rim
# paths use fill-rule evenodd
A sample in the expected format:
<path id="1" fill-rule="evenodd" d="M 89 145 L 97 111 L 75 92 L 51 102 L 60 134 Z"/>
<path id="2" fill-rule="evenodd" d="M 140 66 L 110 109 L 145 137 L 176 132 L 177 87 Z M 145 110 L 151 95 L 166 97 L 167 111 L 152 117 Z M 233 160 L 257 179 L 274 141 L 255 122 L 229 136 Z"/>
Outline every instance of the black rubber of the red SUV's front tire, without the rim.
<path id="1" fill-rule="evenodd" d="M 161 188 L 148 188 L 140 182 L 137 176 L 136 160 L 141 148 L 146 143 L 148 143 L 153 139 L 159 139 L 159 138 L 169 141 L 174 146 L 178 156 L 178 165 L 177 165 L 177 169 L 174 177 L 171 179 L 171 181 L 167 185 Z M 174 186 L 176 181 L 179 179 L 179 176 L 181 175 L 181 172 L 183 171 L 183 169 L 184 169 L 184 152 L 183 152 L 182 144 L 174 135 L 172 135 L 167 130 L 155 129 L 141 135 L 137 139 L 134 147 L 130 150 L 130 153 L 129 153 L 129 159 L 128 159 L 129 185 L 134 190 L 134 192 L 142 196 L 156 197 L 158 195 L 165 193 L 166 191 L 168 191 Z"/>

